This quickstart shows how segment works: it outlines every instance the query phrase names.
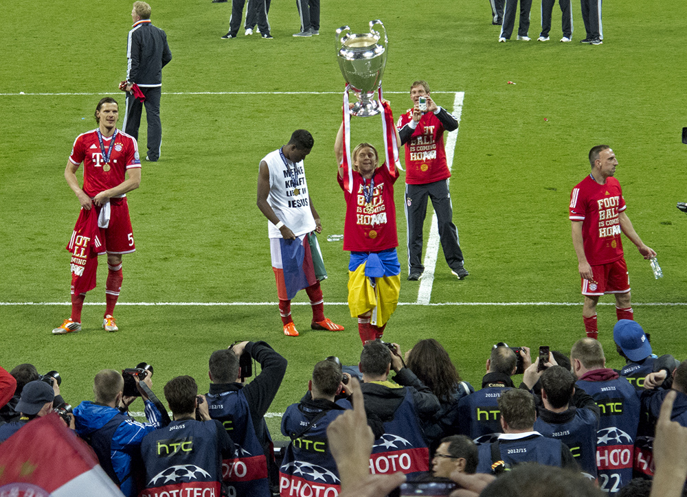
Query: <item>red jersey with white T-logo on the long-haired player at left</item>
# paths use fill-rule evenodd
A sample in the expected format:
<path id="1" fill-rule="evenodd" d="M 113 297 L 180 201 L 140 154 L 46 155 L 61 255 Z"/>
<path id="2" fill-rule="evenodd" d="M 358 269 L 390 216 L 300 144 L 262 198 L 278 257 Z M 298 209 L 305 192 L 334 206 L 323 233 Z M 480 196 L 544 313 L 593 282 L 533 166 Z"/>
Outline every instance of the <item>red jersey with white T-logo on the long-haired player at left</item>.
<path id="1" fill-rule="evenodd" d="M 134 137 L 117 130 L 114 143 L 111 143 L 112 141 L 112 137 L 102 137 L 105 153 L 109 152 L 111 146 L 114 147 L 108 168 L 102 157 L 97 130 L 85 132 L 74 140 L 69 161 L 75 165 L 84 163 L 83 191 L 91 198 L 106 189 L 120 185 L 124 181 L 126 170 L 141 167 L 138 144 Z"/>

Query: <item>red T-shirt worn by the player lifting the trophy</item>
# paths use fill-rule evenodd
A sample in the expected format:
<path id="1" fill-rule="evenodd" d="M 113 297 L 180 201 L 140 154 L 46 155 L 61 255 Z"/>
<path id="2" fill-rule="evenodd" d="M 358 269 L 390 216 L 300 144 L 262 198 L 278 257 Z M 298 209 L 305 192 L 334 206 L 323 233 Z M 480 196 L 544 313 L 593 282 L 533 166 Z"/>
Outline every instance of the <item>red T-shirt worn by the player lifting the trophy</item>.
<path id="1" fill-rule="evenodd" d="M 394 183 L 398 178 L 386 165 L 374 172 L 372 202 L 365 202 L 363 176 L 353 171 L 352 193 L 343 188 L 343 178 L 337 176 L 346 200 L 346 221 L 343 224 L 343 250 L 354 252 L 380 252 L 398 246 L 396 234 L 396 205 Z M 368 181 L 368 185 L 370 182 Z"/>

